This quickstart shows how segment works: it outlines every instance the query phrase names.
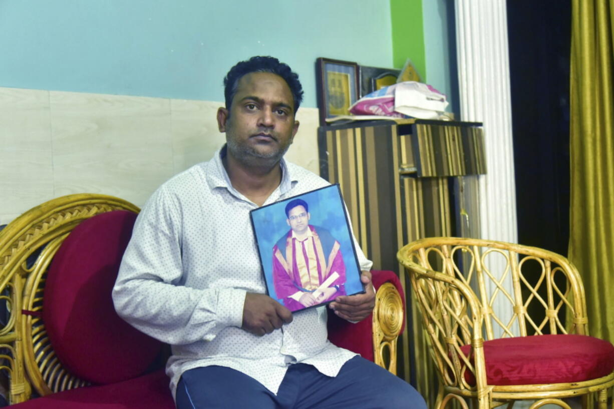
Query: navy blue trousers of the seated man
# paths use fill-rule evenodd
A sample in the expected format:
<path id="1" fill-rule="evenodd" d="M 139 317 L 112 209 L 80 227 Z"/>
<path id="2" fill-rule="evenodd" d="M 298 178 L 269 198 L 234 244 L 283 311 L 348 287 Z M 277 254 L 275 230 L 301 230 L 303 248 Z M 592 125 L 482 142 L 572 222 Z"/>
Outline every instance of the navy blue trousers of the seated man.
<path id="1" fill-rule="evenodd" d="M 356 356 L 334 378 L 307 364 L 291 365 L 277 395 L 231 368 L 210 366 L 183 373 L 177 409 L 426 409 L 410 384 Z"/>

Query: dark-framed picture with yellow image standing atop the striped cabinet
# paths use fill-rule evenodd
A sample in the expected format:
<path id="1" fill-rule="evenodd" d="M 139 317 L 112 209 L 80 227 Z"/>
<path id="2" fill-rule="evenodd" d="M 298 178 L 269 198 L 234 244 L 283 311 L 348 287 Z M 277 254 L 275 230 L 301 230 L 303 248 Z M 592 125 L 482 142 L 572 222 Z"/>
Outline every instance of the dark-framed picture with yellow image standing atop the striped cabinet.
<path id="1" fill-rule="evenodd" d="M 320 125 L 326 119 L 349 115 L 349 107 L 359 98 L 358 64 L 351 61 L 318 58 L 316 60 L 317 107 Z"/>

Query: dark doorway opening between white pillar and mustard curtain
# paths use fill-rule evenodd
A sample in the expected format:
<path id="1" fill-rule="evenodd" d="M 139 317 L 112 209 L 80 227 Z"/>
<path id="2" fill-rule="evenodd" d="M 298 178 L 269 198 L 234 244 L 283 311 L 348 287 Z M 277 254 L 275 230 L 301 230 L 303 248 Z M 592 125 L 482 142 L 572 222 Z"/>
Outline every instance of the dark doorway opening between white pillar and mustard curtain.
<path id="1" fill-rule="evenodd" d="M 567 254 L 570 0 L 508 0 L 518 241 Z"/>

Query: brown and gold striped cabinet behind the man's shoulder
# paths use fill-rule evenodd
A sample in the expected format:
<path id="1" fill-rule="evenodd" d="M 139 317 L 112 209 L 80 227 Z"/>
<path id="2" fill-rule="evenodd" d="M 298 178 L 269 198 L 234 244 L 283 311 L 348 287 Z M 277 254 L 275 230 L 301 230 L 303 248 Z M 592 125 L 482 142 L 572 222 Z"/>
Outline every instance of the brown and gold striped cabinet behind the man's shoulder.
<path id="1" fill-rule="evenodd" d="M 402 120 L 352 122 L 318 130 L 320 174 L 341 186 L 352 229 L 373 268 L 400 276 L 408 300 L 398 374 L 417 386 L 430 378 L 409 280 L 397 262 L 404 244 L 479 232 L 478 174 L 486 173 L 481 123 Z M 418 359 L 416 359 L 418 357 Z M 422 390 L 421 390 L 422 389 Z"/>

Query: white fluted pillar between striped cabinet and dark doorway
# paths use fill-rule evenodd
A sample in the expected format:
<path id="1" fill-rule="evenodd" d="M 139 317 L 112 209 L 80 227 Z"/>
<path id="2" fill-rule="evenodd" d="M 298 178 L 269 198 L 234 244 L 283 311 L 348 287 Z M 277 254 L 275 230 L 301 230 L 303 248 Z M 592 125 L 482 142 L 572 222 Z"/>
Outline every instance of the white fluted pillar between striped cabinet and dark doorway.
<path id="1" fill-rule="evenodd" d="M 505 0 L 456 0 L 456 47 L 461 120 L 484 123 L 488 173 L 479 177 L 481 238 L 517 243 L 505 7 Z M 503 266 L 489 265 L 494 271 Z M 511 289 L 511 280 L 505 287 Z M 504 298 L 497 296 L 493 309 L 497 316 L 511 317 Z"/>

